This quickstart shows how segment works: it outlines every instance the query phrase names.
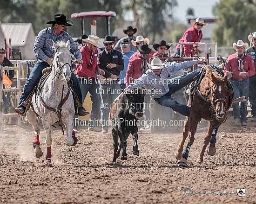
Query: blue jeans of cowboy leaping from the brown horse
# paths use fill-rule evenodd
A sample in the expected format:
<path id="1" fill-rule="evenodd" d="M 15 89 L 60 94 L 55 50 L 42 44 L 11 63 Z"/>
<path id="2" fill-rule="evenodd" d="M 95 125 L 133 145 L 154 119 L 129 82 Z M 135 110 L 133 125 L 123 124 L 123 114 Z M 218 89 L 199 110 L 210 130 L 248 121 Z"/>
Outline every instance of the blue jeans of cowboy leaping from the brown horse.
<path id="1" fill-rule="evenodd" d="M 174 101 L 171 95 L 193 82 L 193 78 L 199 73 L 200 69 L 172 78 L 168 84 L 169 92 L 161 98 L 155 98 L 155 101 L 162 106 L 172 108 L 174 111 L 189 117 L 190 107 Z"/>

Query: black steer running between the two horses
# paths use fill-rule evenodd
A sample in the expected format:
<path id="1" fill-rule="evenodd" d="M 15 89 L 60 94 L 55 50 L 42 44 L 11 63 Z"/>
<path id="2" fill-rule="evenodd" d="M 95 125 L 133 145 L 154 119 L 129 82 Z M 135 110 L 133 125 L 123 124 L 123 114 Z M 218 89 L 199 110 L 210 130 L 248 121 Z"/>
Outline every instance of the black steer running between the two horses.
<path id="1" fill-rule="evenodd" d="M 143 116 L 144 89 L 130 89 L 114 102 L 110 111 L 114 156 L 112 163 L 116 163 L 122 148 L 121 160 L 127 160 L 127 138 L 131 133 L 134 140 L 133 154 L 139 156 L 137 121 Z M 120 144 L 118 143 L 118 137 Z"/>

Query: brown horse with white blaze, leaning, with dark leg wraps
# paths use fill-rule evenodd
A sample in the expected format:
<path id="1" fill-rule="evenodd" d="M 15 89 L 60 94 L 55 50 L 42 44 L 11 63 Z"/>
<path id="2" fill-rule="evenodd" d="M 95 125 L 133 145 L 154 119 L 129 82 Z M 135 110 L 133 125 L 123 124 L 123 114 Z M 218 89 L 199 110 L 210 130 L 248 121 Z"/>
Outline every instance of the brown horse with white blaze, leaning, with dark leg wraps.
<path id="1" fill-rule="evenodd" d="M 202 163 L 203 155 L 209 142 L 207 153 L 211 156 L 215 155 L 216 134 L 220 125 L 226 120 L 226 115 L 233 99 L 233 90 L 227 75 L 223 76 L 209 65 L 206 65 L 200 78 L 202 81 L 200 82 L 199 79 L 199 84 L 195 86 L 193 94 L 189 98 L 190 117 L 186 117 L 182 133 L 183 137 L 175 153 L 175 158 L 180 159 L 179 166 L 188 166 L 189 149 L 195 140 L 196 127 L 201 119 L 210 121 L 210 126 L 208 133 L 204 137 L 202 151 L 196 162 Z M 184 142 L 188 136 L 188 144 L 182 153 Z"/>

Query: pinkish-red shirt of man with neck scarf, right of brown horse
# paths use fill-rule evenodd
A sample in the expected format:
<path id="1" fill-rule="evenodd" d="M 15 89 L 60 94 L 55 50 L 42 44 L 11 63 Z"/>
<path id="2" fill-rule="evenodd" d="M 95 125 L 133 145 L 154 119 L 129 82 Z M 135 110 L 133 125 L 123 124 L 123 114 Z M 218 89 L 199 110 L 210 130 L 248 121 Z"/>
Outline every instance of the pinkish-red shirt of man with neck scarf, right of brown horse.
<path id="1" fill-rule="evenodd" d="M 245 57 L 243 57 L 243 65 L 244 65 L 244 70 L 246 71 L 246 77 L 241 77 L 239 76 L 240 71 L 237 68 L 237 62 L 238 59 L 236 59 L 236 53 L 229 55 L 228 60 L 227 60 L 227 64 L 225 66 L 224 69 L 224 73 L 226 74 L 228 71 L 233 72 L 233 79 L 239 79 L 239 78 L 243 78 L 246 79 L 248 77 L 251 77 L 255 74 L 255 66 L 254 66 L 254 62 L 253 59 L 250 55 L 245 55 Z M 242 70 L 241 70 L 242 71 Z"/>

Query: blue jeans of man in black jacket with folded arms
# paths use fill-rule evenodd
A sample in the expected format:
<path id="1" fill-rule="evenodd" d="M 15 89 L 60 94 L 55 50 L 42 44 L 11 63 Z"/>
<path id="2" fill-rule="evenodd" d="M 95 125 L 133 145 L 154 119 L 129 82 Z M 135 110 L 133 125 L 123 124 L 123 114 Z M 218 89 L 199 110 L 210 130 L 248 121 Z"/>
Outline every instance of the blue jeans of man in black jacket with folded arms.
<path id="1" fill-rule="evenodd" d="M 121 94 L 121 89 L 117 80 L 111 83 L 101 83 L 101 119 L 102 119 L 102 129 L 108 130 L 108 116 L 110 108 L 115 98 Z"/>

